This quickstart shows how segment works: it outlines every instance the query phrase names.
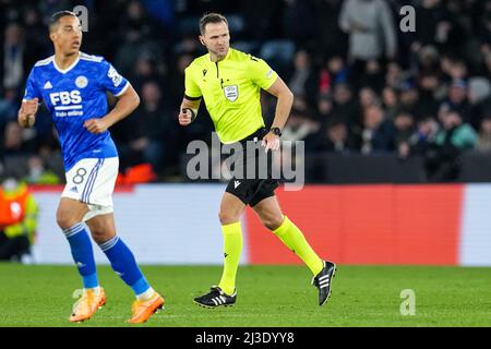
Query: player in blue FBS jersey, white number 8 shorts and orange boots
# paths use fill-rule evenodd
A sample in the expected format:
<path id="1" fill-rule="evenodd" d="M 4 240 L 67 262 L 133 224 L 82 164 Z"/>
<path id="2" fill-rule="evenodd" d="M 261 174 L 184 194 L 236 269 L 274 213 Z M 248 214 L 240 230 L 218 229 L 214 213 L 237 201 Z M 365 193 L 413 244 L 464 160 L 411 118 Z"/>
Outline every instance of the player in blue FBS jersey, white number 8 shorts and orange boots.
<path id="1" fill-rule="evenodd" d="M 55 56 L 38 61 L 31 71 L 17 119 L 24 128 L 34 125 L 38 105 L 44 100 L 58 131 L 67 185 L 58 206 L 57 222 L 69 241 L 84 287 L 70 321 L 92 317 L 106 302 L 88 227 L 112 269 L 136 296 L 130 322 L 143 323 L 163 308 L 164 299 L 149 286 L 133 253 L 116 234 L 111 195 L 119 158 L 108 131 L 139 106 L 140 98 L 104 58 L 80 51 L 82 29 L 74 13 L 55 13 L 49 37 Z M 106 92 L 118 98 L 110 111 Z"/>

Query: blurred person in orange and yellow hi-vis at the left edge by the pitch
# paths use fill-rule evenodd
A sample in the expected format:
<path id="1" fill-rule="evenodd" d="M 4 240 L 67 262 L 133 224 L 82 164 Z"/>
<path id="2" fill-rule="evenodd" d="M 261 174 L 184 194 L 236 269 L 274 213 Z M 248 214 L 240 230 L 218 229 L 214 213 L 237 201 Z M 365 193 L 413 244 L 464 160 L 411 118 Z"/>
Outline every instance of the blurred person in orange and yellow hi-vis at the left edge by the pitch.
<path id="1" fill-rule="evenodd" d="M 0 188 L 0 261 L 31 255 L 37 228 L 38 205 L 27 185 L 12 177 Z"/>

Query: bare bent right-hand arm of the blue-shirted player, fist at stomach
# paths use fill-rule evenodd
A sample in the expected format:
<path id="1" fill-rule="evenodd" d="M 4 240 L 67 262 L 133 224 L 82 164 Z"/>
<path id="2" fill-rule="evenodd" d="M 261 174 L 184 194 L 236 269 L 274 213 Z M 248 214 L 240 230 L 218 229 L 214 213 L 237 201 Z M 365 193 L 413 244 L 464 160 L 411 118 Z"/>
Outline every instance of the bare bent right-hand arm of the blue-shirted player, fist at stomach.
<path id="1" fill-rule="evenodd" d="M 100 119 L 86 120 L 84 127 L 88 132 L 103 133 L 115 123 L 128 117 L 140 105 L 140 96 L 133 86 L 128 83 L 128 88 L 119 96 L 115 108 Z"/>

